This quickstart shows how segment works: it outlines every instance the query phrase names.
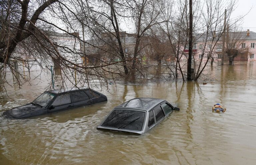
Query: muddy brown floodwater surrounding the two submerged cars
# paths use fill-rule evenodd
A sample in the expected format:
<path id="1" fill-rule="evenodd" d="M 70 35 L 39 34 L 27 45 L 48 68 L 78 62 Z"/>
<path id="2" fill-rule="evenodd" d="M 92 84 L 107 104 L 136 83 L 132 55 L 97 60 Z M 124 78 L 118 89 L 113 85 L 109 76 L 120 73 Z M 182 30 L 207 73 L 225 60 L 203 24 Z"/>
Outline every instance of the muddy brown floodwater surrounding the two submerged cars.
<path id="1" fill-rule="evenodd" d="M 255 164 L 256 62 L 211 71 L 213 81 L 110 86 L 108 101 L 26 119 L 0 117 L 0 164 Z M 32 73 L 33 74 L 33 73 Z M 218 79 L 218 80 L 216 80 Z M 45 82 L 0 94 L 0 114 L 31 102 Z M 142 135 L 97 130 L 112 108 L 134 97 L 178 106 Z M 221 103 L 225 113 L 211 108 Z"/>

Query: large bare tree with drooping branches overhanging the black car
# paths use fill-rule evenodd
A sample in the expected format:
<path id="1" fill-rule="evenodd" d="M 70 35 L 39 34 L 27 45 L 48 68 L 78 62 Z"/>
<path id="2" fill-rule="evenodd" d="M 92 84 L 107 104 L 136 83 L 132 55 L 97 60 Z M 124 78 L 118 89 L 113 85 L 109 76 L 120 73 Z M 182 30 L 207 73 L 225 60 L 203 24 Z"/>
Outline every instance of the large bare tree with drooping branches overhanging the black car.
<path id="1" fill-rule="evenodd" d="M 113 67 L 110 66 L 118 65 L 119 63 L 125 65 L 125 58 L 122 58 L 121 61 L 105 62 L 101 57 L 97 56 L 95 58 L 100 63 L 94 63 L 92 66 L 84 66 L 82 64 L 82 57 L 84 57 L 85 52 L 81 51 L 80 46 L 77 47 L 76 45 L 80 45 L 80 42 L 83 43 L 84 40 L 78 35 L 81 32 L 81 26 L 79 27 L 78 24 L 81 25 L 82 23 L 91 36 L 99 36 L 102 31 L 99 28 L 95 28 L 94 23 L 100 26 L 105 20 L 100 20 L 102 17 L 97 18 L 97 16 L 104 14 L 103 12 L 98 13 L 98 15 L 97 12 L 92 13 L 92 7 L 88 1 L 62 2 L 58 0 L 42 0 L 30 2 L 29 0 L 18 0 L 4 1 L 0 5 L 1 9 L 5 9 L 1 11 L 0 16 L 0 69 L 4 80 L 6 79 L 7 71 L 10 70 L 19 87 L 29 81 L 20 72 L 17 63 L 26 63 L 28 61 L 35 62 L 36 65 L 42 68 L 42 71 L 49 65 L 54 65 L 55 68 L 61 69 L 59 76 L 62 87 L 67 85 L 67 82 L 70 82 L 72 86 L 77 86 L 78 82 L 83 86 L 85 85 L 84 82 L 87 82 L 87 85 L 90 86 L 89 80 L 95 78 L 99 79 L 102 82 L 101 85 L 103 85 L 107 84 L 106 82 L 109 79 L 122 76 L 120 70 L 113 70 Z M 111 5 L 111 3 L 108 5 Z M 79 9 L 77 11 L 80 13 L 83 11 L 84 17 L 78 17 L 78 12 L 75 12 L 75 9 Z M 114 9 L 110 8 L 111 10 Z M 79 23 L 74 23 L 74 20 Z M 62 24 L 60 25 L 58 22 Z M 107 23 L 104 25 L 107 27 Z M 56 37 L 58 34 L 73 38 L 74 43 L 59 43 Z M 98 38 L 102 39 L 101 36 Z M 89 42 L 86 44 L 90 45 Z M 113 47 L 113 45 L 110 46 Z M 104 51 L 108 52 L 108 50 Z M 113 52 L 108 53 L 116 55 Z M 5 82 L 8 83 L 7 80 Z"/>

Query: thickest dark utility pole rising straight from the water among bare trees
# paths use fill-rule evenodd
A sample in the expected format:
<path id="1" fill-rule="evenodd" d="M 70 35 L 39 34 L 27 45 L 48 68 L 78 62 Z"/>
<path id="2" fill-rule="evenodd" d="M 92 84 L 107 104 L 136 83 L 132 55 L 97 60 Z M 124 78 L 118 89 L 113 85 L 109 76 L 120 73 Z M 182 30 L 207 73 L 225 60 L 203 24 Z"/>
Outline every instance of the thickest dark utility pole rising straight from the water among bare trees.
<path id="1" fill-rule="evenodd" d="M 193 39 L 192 0 L 189 0 L 189 48 L 188 48 L 188 67 L 187 67 L 188 81 L 191 81 L 192 43 L 193 43 L 192 39 Z"/>

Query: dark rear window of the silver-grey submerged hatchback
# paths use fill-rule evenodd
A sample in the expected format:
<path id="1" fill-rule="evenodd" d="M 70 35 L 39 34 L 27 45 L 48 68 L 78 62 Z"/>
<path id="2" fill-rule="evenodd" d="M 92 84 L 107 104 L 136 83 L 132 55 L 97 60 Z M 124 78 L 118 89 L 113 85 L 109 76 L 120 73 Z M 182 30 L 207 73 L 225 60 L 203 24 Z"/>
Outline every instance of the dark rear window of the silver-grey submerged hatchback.
<path id="1" fill-rule="evenodd" d="M 141 131 L 144 118 L 145 112 L 142 111 L 115 109 L 108 115 L 102 126 Z"/>

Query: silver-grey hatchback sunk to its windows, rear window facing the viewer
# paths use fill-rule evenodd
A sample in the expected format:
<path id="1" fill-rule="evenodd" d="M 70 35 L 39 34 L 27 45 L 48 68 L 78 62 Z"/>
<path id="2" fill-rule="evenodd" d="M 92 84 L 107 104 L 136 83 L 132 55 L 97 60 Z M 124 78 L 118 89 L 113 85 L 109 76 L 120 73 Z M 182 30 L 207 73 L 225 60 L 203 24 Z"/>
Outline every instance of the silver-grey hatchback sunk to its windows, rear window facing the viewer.
<path id="1" fill-rule="evenodd" d="M 179 108 L 162 99 L 134 98 L 115 107 L 97 128 L 142 134 L 173 110 Z"/>

